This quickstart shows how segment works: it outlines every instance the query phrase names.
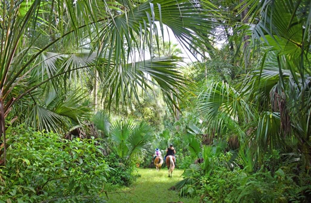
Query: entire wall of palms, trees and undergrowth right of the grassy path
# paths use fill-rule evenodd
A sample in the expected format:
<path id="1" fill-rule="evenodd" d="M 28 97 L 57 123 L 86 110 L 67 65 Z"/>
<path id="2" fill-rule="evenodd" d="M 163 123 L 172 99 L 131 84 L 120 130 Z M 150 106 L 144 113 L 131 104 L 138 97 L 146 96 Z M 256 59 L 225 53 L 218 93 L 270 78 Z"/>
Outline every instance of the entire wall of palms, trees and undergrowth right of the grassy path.
<path id="1" fill-rule="evenodd" d="M 175 122 L 190 152 L 176 188 L 202 202 L 309 202 L 310 2 L 214 3 L 227 43 L 187 69 L 196 94 Z"/>

